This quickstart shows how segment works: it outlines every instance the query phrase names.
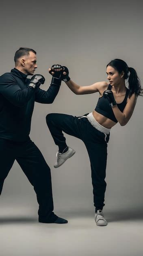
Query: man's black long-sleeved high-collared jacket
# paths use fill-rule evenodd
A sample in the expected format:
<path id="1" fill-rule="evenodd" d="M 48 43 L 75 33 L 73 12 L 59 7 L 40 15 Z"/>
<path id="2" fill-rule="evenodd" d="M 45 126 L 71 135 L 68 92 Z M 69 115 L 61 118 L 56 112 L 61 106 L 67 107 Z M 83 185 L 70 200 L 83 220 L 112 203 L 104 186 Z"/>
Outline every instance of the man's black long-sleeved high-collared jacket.
<path id="1" fill-rule="evenodd" d="M 47 91 L 35 90 L 29 82 L 16 68 L 0 76 L 0 138 L 26 141 L 35 101 L 52 103 L 60 88 L 51 84 Z"/>

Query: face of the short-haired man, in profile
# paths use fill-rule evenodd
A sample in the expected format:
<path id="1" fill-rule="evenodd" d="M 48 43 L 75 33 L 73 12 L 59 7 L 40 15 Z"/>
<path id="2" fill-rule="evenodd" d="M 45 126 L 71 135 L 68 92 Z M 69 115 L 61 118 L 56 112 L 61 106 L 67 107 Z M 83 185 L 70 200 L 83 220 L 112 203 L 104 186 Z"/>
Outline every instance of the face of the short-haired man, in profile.
<path id="1" fill-rule="evenodd" d="M 29 52 L 28 56 L 24 56 L 24 73 L 27 75 L 33 75 L 37 68 L 37 58 L 34 52 Z"/>

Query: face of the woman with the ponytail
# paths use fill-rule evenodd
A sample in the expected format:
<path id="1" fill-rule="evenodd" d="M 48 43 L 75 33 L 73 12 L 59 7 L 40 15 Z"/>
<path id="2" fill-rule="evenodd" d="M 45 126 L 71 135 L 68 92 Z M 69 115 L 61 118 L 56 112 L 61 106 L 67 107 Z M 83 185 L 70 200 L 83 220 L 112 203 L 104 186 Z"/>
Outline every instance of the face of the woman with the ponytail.
<path id="1" fill-rule="evenodd" d="M 115 70 L 114 67 L 111 67 L 111 66 L 107 67 L 106 74 L 108 75 L 107 79 L 109 80 L 109 82 L 112 86 L 119 85 L 124 76 L 124 72 L 119 74 L 119 72 L 117 70 Z"/>

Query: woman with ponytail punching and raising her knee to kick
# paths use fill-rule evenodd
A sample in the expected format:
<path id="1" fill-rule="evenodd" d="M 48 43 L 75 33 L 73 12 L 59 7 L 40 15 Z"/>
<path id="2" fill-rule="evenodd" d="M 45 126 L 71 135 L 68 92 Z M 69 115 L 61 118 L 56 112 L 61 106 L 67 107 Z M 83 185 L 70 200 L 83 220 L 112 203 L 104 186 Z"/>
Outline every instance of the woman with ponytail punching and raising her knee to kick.
<path id="1" fill-rule="evenodd" d="M 142 93 L 140 80 L 136 71 L 120 59 L 115 59 L 106 66 L 109 83 L 97 82 L 89 86 L 79 86 L 69 78 L 67 67 L 61 67 L 61 65 L 53 65 L 49 72 L 65 81 L 75 94 L 100 93 L 93 112 L 82 117 L 48 114 L 46 121 L 54 142 L 59 148 L 55 168 L 61 166 L 75 153 L 74 149 L 67 146 L 62 131 L 82 139 L 85 143 L 91 162 L 95 222 L 98 226 L 105 226 L 107 221 L 102 209 L 105 205 L 107 143 L 110 130 L 117 122 L 124 126 L 130 120 L 137 97 Z M 125 79 L 128 79 L 129 89 L 126 88 Z"/>

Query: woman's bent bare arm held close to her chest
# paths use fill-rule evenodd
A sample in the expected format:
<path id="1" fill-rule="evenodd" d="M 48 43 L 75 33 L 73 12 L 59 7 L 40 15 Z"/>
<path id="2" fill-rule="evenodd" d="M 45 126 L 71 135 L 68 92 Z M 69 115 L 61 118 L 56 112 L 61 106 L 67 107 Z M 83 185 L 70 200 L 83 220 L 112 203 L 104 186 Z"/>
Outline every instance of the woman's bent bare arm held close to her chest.
<path id="1" fill-rule="evenodd" d="M 121 112 L 119 110 L 117 105 L 112 107 L 114 115 L 115 115 L 117 121 L 119 122 L 119 124 L 121 126 L 126 125 L 128 123 L 128 121 L 130 120 L 130 118 L 132 116 L 132 113 L 134 111 L 134 107 L 136 105 L 136 102 L 137 102 L 137 95 L 136 94 L 132 94 L 130 99 L 128 98 L 126 107 L 124 108 L 123 112 Z"/>

